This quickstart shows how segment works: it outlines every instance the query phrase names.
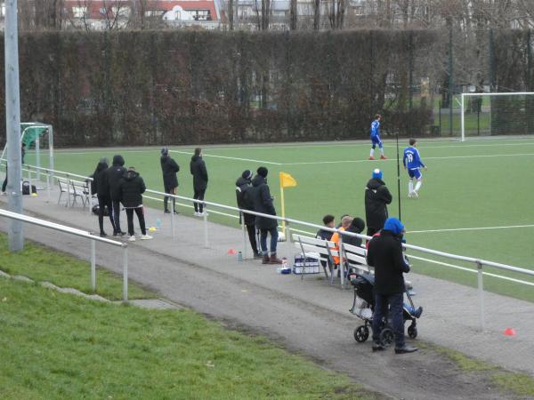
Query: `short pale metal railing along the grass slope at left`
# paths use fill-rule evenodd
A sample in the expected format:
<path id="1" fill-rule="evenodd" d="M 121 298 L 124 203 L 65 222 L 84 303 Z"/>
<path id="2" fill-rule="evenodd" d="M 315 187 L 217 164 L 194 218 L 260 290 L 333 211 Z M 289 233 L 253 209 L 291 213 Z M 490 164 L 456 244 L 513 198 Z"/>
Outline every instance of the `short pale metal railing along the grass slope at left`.
<path id="1" fill-rule="evenodd" d="M 37 225 L 39 227 L 54 229 L 69 235 L 75 235 L 84 237 L 91 240 L 91 287 L 93 292 L 96 291 L 96 242 L 104 244 L 110 244 L 123 249 L 123 300 L 128 301 L 128 245 L 117 242 L 115 240 L 106 239 L 105 237 L 93 236 L 85 230 L 70 228 L 65 225 L 56 224 L 47 220 L 39 220 L 34 217 L 28 217 L 27 215 L 19 214 L 17 212 L 10 212 L 0 209 L 0 216 L 9 218 L 11 220 L 20 220 L 28 224 Z"/>

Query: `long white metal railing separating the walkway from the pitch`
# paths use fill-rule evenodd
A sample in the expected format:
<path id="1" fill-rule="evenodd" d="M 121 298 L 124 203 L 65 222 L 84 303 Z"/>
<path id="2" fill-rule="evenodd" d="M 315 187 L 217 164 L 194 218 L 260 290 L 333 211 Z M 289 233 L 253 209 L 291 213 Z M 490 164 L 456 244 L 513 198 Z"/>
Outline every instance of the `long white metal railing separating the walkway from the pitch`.
<path id="1" fill-rule="evenodd" d="M 72 177 L 83 178 L 83 179 L 91 179 L 91 178 L 87 178 L 87 177 L 85 177 L 83 175 L 77 175 L 77 174 L 71 173 L 71 172 L 54 171 L 54 170 L 50 170 L 50 169 L 46 169 L 46 168 L 36 167 L 36 166 L 33 166 L 33 165 L 26 165 L 26 168 L 28 168 L 29 170 L 31 170 L 31 169 L 37 170 L 38 169 L 40 171 L 43 171 L 47 176 L 49 174 L 51 174 L 51 173 L 57 173 L 57 174 L 64 174 L 65 176 L 72 176 Z M 49 186 L 48 190 L 50 191 L 50 186 Z M 252 215 L 255 215 L 255 216 L 268 218 L 268 219 L 271 219 L 271 220 L 277 220 L 279 222 L 284 221 L 286 223 L 287 240 L 288 241 L 291 241 L 291 231 L 292 231 L 292 229 L 294 229 L 295 231 L 298 231 L 298 232 L 303 232 L 303 233 L 309 234 L 309 232 L 307 232 L 307 231 L 291 228 L 291 224 L 299 225 L 299 226 L 303 226 L 303 227 L 307 227 L 307 228 L 323 229 L 323 230 L 327 230 L 327 231 L 332 232 L 332 233 L 337 232 L 340 235 L 340 243 L 339 243 L 340 248 L 343 247 L 343 236 L 360 237 L 360 238 L 365 239 L 365 240 L 370 240 L 371 239 L 370 236 L 366 236 L 366 235 L 354 234 L 352 232 L 345 232 L 343 230 L 336 229 L 336 228 L 327 228 L 327 227 L 324 227 L 324 226 L 321 226 L 321 225 L 318 225 L 318 224 L 314 224 L 314 223 L 311 223 L 311 222 L 305 222 L 303 220 L 294 220 L 294 219 L 291 219 L 291 218 L 282 218 L 282 217 L 279 217 L 277 215 L 263 214 L 262 212 L 253 212 L 253 211 L 249 211 L 249 210 L 241 210 L 238 207 L 234 207 L 234 206 L 231 206 L 231 205 L 218 204 L 218 203 L 214 203 L 214 202 L 210 202 L 210 201 L 206 201 L 206 200 L 197 200 L 197 199 L 193 199 L 193 198 L 186 197 L 186 196 L 172 195 L 172 194 L 169 194 L 169 193 L 164 193 L 164 192 L 160 192 L 160 191 L 157 191 L 157 190 L 151 190 L 151 189 L 147 189 L 145 193 L 150 193 L 150 194 L 158 195 L 158 196 L 168 196 L 170 198 L 175 198 L 175 199 L 182 200 L 182 201 L 187 201 L 187 202 L 190 202 L 190 203 L 198 203 L 198 204 L 204 204 L 205 206 L 207 205 L 207 206 L 210 206 L 210 207 L 216 207 L 216 208 L 228 211 L 228 212 L 236 212 L 236 215 L 234 215 L 234 214 L 229 214 L 228 212 L 217 212 L 215 210 L 211 210 L 210 209 L 210 212 L 213 212 L 215 214 L 224 215 L 224 216 L 230 216 L 232 218 L 239 218 L 239 213 L 247 213 L 247 214 L 252 214 Z M 144 197 L 150 198 L 150 199 L 153 199 L 153 200 L 162 201 L 161 199 L 158 199 L 158 198 L 152 197 L 152 196 L 144 196 Z M 190 204 L 180 204 L 180 205 L 190 207 Z M 175 233 L 174 233 L 174 205 L 173 205 L 173 202 L 171 202 L 171 208 L 172 208 L 171 225 L 172 225 L 172 235 L 173 235 L 173 238 L 174 238 Z M 203 220 L 204 220 L 204 245 L 205 245 L 205 247 L 208 247 L 209 242 L 208 242 L 207 212 L 204 213 Z M 242 239 L 243 240 L 243 251 L 244 251 L 243 255 L 244 255 L 244 257 L 247 257 L 247 229 L 246 229 L 246 226 L 245 226 L 244 219 L 241 220 L 241 230 L 242 230 L 242 233 L 243 233 L 243 239 Z M 483 289 L 483 276 L 484 275 L 497 277 L 499 279 L 505 279 L 505 280 L 513 281 L 513 282 L 516 282 L 516 283 L 519 283 L 519 284 L 534 285 L 534 284 L 532 284 L 532 283 L 530 283 L 528 281 L 523 281 L 523 280 L 520 280 L 520 279 L 514 279 L 514 278 L 510 278 L 508 276 L 499 276 L 497 274 L 490 274 L 490 273 L 486 273 L 486 272 L 482 271 L 482 268 L 484 266 L 487 266 L 487 267 L 491 267 L 491 268 L 498 268 L 498 269 L 502 269 L 502 270 L 507 270 L 507 271 L 519 273 L 519 274 L 526 275 L 526 276 L 534 276 L 534 271 L 530 270 L 530 269 L 513 267 L 513 266 L 509 266 L 509 265 L 506 265 L 506 264 L 501 264 L 501 263 L 493 262 L 493 261 L 489 261 L 489 260 L 475 259 L 473 257 L 460 256 L 460 255 L 452 254 L 452 253 L 449 253 L 449 252 L 439 252 L 439 251 L 436 251 L 436 250 L 427 249 L 425 247 L 420 247 L 420 246 L 417 246 L 417 245 L 414 245 L 414 244 L 403 244 L 403 247 L 406 250 L 409 250 L 409 251 L 433 254 L 435 256 L 443 257 L 443 258 L 446 258 L 446 259 L 458 260 L 458 261 L 463 261 L 463 262 L 467 262 L 467 263 L 473 264 L 473 266 L 476 269 L 469 269 L 469 268 L 465 268 L 465 269 L 469 269 L 471 272 L 476 272 L 477 275 L 478 275 L 477 288 L 478 288 L 478 292 L 479 292 L 480 311 L 481 311 L 480 312 L 481 330 L 484 329 L 484 309 L 483 309 L 484 308 L 484 297 L 483 297 L 483 292 L 484 292 L 484 289 Z M 411 254 L 409 256 L 411 258 L 415 259 L 415 260 L 427 261 L 427 259 L 424 259 L 424 258 L 421 258 L 421 257 L 417 257 L 417 256 L 414 256 L 414 255 L 411 255 Z M 436 264 L 441 264 L 442 266 L 446 266 L 446 267 L 452 267 L 451 264 L 440 263 L 440 261 L 429 261 L 429 262 L 433 262 L 433 263 L 436 263 Z M 454 266 L 454 267 L 462 269 L 462 267 L 459 267 L 459 266 Z M 342 279 L 343 279 L 343 274 L 341 274 L 341 276 L 342 276 Z M 343 284 L 343 281 L 342 281 L 342 284 Z"/>

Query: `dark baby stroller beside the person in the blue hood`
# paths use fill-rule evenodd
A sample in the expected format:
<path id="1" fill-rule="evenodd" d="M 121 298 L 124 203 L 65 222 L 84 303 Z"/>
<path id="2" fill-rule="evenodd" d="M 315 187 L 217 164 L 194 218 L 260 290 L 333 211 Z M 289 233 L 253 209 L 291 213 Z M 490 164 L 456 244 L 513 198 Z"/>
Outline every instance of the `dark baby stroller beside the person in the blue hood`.
<path id="1" fill-rule="evenodd" d="M 349 310 L 355 316 L 358 316 L 363 325 L 358 326 L 354 330 L 354 339 L 362 343 L 368 340 L 369 326 L 373 322 L 373 311 L 375 309 L 375 276 L 367 273 L 352 274 L 350 276 L 352 286 L 354 287 L 354 301 L 352 302 L 352 308 Z M 410 321 L 408 327 L 408 336 L 411 339 L 417 338 L 417 318 L 423 313 L 423 308 L 416 308 L 414 302 L 411 299 L 411 292 L 409 288 L 406 288 L 406 297 L 409 300 L 409 304 L 404 303 L 402 309 L 402 317 L 404 322 Z M 388 318 L 384 318 L 381 324 L 380 341 L 384 346 L 389 346 L 394 340 L 393 331 L 391 328 L 391 322 Z"/>

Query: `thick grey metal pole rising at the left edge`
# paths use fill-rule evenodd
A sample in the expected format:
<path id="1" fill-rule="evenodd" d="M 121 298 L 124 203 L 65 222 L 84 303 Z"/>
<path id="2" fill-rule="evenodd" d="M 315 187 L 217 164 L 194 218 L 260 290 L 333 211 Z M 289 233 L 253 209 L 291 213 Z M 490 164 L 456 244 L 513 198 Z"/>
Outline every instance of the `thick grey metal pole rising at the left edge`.
<path id="1" fill-rule="evenodd" d="M 20 180 L 22 178 L 20 154 L 20 88 L 19 88 L 19 34 L 17 28 L 17 0 L 5 2 L 5 132 L 7 141 L 7 193 L 9 211 L 22 213 Z M 20 252 L 24 247 L 22 221 L 10 220 L 9 249 Z"/>

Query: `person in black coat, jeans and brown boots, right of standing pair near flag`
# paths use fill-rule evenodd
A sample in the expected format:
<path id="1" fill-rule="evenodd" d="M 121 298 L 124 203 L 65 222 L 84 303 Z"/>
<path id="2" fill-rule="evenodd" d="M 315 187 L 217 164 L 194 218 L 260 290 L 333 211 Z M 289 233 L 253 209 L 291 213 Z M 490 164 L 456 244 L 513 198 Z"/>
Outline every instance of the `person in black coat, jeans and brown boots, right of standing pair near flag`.
<path id="1" fill-rule="evenodd" d="M 267 186 L 267 168 L 258 168 L 258 174 L 252 180 L 252 200 L 255 212 L 276 215 L 272 196 Z M 256 216 L 255 226 L 260 229 L 260 245 L 263 252 L 263 264 L 281 264 L 282 260 L 276 257 L 276 246 L 278 244 L 278 220 Z M 267 250 L 267 234 L 271 234 L 271 257 Z"/>

